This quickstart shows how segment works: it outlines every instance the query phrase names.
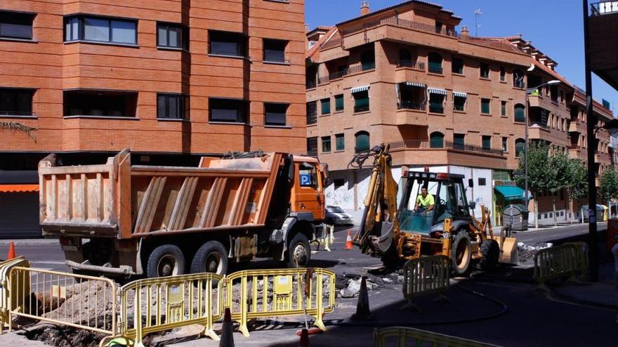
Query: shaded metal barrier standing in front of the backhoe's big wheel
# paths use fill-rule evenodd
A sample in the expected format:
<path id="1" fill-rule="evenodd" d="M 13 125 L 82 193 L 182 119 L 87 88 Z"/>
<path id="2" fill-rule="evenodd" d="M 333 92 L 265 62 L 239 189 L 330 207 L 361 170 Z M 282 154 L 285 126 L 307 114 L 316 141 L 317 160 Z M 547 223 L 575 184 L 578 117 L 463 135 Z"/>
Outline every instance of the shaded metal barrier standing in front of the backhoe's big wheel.
<path id="1" fill-rule="evenodd" d="M 403 266 L 402 292 L 408 302 L 402 306 L 402 309 L 415 308 L 421 311 L 412 303 L 412 299 L 427 294 L 440 294 L 441 299 L 448 300 L 444 293 L 449 290 L 450 286 L 450 264 L 451 260 L 445 255 L 407 261 Z"/>

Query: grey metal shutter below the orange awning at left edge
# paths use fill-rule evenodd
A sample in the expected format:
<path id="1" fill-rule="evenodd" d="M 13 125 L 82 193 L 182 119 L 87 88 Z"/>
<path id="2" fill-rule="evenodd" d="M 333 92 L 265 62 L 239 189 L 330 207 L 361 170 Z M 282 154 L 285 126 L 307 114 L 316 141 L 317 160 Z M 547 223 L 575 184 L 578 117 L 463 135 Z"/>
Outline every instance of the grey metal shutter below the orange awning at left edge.
<path id="1" fill-rule="evenodd" d="M 39 193 L 0 193 L 0 238 L 41 238 Z"/>

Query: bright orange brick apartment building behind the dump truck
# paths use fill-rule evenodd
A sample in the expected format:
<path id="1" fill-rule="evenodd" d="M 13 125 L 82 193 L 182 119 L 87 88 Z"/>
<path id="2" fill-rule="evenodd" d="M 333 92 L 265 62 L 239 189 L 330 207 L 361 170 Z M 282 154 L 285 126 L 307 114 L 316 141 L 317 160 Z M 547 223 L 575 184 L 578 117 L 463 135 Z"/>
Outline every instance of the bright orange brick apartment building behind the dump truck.
<path id="1" fill-rule="evenodd" d="M 303 22 L 303 0 L 2 1 L 0 121 L 37 130 L 0 130 L 1 215 L 37 224 L 32 174 L 51 152 L 91 163 L 130 148 L 146 165 L 303 153 Z M 39 233 L 13 224 L 0 237 Z"/>

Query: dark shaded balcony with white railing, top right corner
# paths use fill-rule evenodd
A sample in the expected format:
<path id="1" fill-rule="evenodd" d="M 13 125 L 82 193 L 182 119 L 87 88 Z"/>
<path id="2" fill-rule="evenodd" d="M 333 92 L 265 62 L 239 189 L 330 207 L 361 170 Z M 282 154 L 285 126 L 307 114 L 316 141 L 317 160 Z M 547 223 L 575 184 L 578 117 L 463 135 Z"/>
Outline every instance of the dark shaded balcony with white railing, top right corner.
<path id="1" fill-rule="evenodd" d="M 618 2 L 591 4 L 589 29 L 591 69 L 618 90 Z"/>

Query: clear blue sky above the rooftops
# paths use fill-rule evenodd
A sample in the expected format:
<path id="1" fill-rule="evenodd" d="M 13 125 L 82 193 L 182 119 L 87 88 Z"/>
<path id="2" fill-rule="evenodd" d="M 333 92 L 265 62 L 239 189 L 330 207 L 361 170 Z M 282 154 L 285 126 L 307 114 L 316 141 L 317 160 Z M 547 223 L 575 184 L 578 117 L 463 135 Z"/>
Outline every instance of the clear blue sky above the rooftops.
<path id="1" fill-rule="evenodd" d="M 369 0 L 372 11 L 403 0 Z M 558 62 L 556 71 L 584 88 L 584 25 L 580 0 L 432 0 L 463 18 L 474 34 L 474 11 L 481 9 L 479 36 L 522 34 L 532 45 Z M 361 0 L 305 0 L 310 28 L 334 25 L 360 15 Z M 459 28 L 458 28 L 459 31 Z M 593 97 L 605 99 L 618 111 L 618 92 L 593 74 Z"/>

